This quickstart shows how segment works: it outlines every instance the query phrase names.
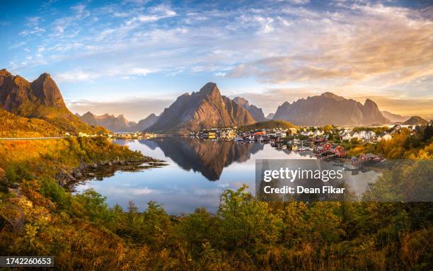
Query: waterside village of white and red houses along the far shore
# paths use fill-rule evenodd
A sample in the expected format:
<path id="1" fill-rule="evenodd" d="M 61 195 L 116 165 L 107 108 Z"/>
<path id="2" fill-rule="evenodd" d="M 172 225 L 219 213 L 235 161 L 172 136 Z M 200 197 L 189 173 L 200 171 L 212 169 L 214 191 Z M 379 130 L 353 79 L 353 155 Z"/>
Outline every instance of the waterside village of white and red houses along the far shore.
<path id="1" fill-rule="evenodd" d="M 381 154 L 372 152 L 353 154 L 347 151 L 354 146 L 374 146 L 388 141 L 401 129 L 415 131 L 416 125 L 383 125 L 379 127 L 290 127 L 272 129 L 251 129 L 241 131 L 237 127 L 204 129 L 191 132 L 190 137 L 213 141 L 234 141 L 237 144 L 270 144 L 276 149 L 309 152 L 321 159 L 343 160 L 348 168 L 359 168 L 363 163 L 383 161 Z M 366 148 L 369 149 L 369 148 Z M 351 155 L 352 153 L 352 155 Z"/>

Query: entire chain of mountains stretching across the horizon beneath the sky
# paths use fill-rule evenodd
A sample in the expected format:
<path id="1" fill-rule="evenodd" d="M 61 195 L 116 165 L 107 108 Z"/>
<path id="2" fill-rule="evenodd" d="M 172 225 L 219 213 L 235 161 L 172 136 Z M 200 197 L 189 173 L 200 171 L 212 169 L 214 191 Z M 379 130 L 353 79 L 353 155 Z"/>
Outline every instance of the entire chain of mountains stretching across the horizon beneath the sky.
<path id="1" fill-rule="evenodd" d="M 53 125 L 58 131 L 78 133 L 113 132 L 188 132 L 211 127 L 252 125 L 266 120 L 285 120 L 294 125 L 374 125 L 405 122 L 410 125 L 425 124 L 421 117 L 405 117 L 380 111 L 373 100 L 364 104 L 327 92 L 320 96 L 301 98 L 293 103 L 279 105 L 275 114 L 267 117 L 261 108 L 250 105 L 248 100 L 233 100 L 222 96 L 216 83 L 205 84 L 200 91 L 185 93 L 163 110 L 158 117 L 151 114 L 139 122 L 130 122 L 123 115 L 73 115 L 66 107 L 62 94 L 50 74 L 41 74 L 29 82 L 21 76 L 13 76 L 6 69 L 0 70 L 0 108 L 14 115 L 40 119 L 47 122 L 39 130 Z M 2 114 L 6 116 L 5 114 Z M 16 125 L 25 120 L 16 119 Z M 30 122 L 29 122 L 30 123 Z M 30 129 L 31 125 L 24 128 Z M 23 129 L 24 129 L 23 128 Z"/>

